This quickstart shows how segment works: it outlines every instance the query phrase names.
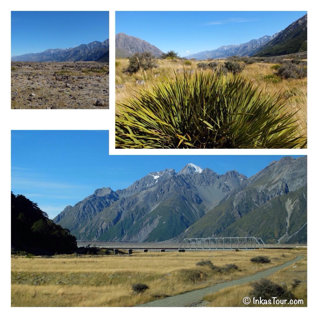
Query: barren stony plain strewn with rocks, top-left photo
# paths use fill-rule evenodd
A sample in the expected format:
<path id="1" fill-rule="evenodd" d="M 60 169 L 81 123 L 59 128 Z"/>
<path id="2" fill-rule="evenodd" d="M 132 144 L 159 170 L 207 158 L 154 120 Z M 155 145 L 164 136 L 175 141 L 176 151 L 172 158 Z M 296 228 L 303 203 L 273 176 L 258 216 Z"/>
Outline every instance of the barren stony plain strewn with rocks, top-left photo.
<path id="1" fill-rule="evenodd" d="M 109 109 L 109 63 L 12 61 L 11 109 Z"/>

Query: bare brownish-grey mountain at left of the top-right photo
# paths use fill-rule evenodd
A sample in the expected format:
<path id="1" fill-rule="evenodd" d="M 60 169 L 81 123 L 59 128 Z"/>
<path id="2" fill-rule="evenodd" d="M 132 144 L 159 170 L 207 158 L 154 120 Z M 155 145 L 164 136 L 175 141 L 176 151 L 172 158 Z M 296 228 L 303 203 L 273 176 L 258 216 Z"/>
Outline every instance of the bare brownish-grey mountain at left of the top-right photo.
<path id="1" fill-rule="evenodd" d="M 128 57 L 135 52 L 151 52 L 156 57 L 159 57 L 163 52 L 155 45 L 125 33 L 118 33 L 115 36 L 115 56 Z"/>

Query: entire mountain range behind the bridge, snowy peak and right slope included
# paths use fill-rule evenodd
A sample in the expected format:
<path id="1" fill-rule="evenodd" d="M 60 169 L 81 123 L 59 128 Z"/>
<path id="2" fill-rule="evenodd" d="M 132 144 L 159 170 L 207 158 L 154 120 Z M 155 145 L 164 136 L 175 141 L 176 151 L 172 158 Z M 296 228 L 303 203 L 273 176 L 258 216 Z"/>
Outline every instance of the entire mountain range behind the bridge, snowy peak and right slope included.
<path id="1" fill-rule="evenodd" d="M 53 221 L 77 240 L 261 236 L 266 243 L 305 243 L 307 157 L 284 157 L 250 178 L 194 164 L 152 172 L 126 189 L 97 189 Z"/>

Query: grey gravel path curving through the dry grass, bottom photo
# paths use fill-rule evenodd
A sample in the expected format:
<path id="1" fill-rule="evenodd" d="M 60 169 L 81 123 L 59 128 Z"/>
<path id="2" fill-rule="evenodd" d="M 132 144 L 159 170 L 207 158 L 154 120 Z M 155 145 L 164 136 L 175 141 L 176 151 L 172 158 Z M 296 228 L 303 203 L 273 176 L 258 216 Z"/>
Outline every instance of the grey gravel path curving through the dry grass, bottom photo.
<path id="1" fill-rule="evenodd" d="M 163 298 L 163 299 L 159 299 L 159 300 L 155 300 L 155 301 L 150 301 L 146 304 L 138 305 L 136 307 L 188 307 L 191 304 L 199 303 L 204 295 L 213 294 L 213 293 L 215 293 L 215 292 L 217 292 L 220 289 L 223 289 L 225 287 L 231 287 L 234 285 L 241 285 L 241 284 L 251 282 L 253 280 L 259 280 L 260 278 L 264 278 L 266 276 L 269 276 L 269 275 L 279 271 L 280 269 L 282 269 L 284 267 L 292 265 L 294 262 L 298 262 L 302 258 L 304 258 L 304 256 L 298 255 L 295 259 L 293 259 L 289 262 L 286 262 L 280 266 L 266 269 L 263 272 L 253 274 L 251 276 L 243 277 L 243 278 L 240 278 L 237 280 L 228 281 L 225 283 L 216 284 L 214 286 L 206 287 L 206 288 L 199 289 L 199 290 L 193 290 L 192 292 L 187 292 L 187 293 L 176 295 L 176 296 L 171 296 L 171 297 L 167 297 L 167 298 Z M 245 295 L 242 295 L 242 300 L 243 300 L 244 296 Z"/>

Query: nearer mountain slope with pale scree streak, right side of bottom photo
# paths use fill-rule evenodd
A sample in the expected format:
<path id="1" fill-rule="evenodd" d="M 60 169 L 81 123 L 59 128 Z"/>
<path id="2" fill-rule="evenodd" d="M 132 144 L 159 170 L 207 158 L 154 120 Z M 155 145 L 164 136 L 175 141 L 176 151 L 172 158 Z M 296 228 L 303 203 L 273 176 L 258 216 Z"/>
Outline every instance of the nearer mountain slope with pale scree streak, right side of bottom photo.
<path id="1" fill-rule="evenodd" d="M 307 242 L 307 157 L 284 157 L 242 182 L 177 239 L 261 236 Z"/>

